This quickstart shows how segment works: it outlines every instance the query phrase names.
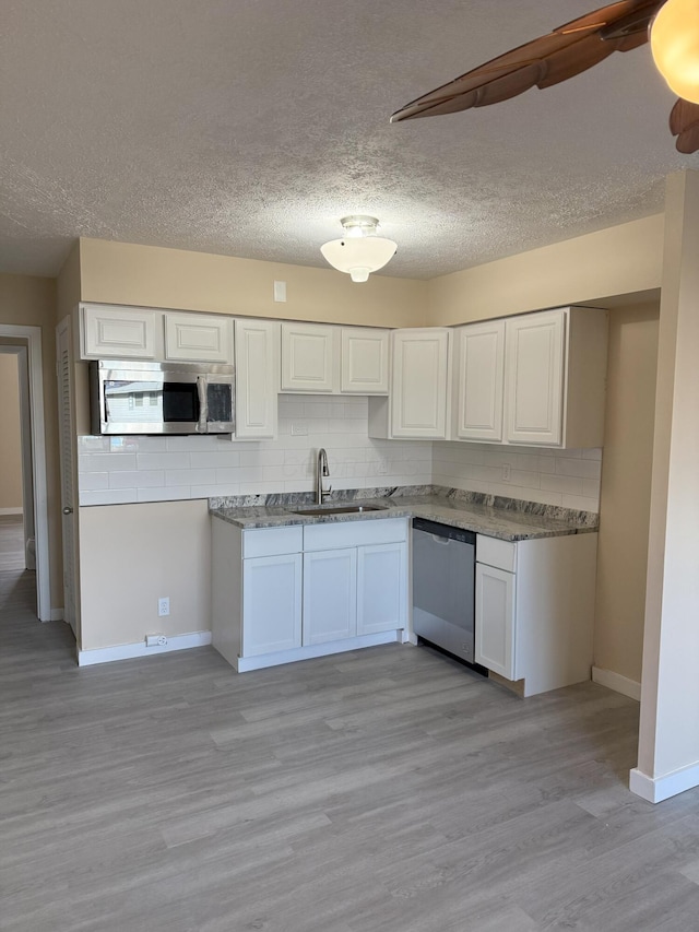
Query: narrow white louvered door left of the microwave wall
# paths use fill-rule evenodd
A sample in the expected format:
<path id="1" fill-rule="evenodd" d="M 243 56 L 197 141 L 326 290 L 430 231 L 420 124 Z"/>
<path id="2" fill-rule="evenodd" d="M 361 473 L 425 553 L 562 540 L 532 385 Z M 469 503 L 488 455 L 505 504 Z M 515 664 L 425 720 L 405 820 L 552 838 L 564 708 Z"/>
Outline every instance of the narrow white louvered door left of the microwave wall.
<path id="1" fill-rule="evenodd" d="M 63 545 L 63 620 L 67 621 L 80 645 L 78 621 L 78 515 L 75 476 L 75 415 L 71 391 L 70 318 L 59 323 L 56 331 L 58 402 L 59 402 L 59 450 L 61 457 L 61 531 Z"/>

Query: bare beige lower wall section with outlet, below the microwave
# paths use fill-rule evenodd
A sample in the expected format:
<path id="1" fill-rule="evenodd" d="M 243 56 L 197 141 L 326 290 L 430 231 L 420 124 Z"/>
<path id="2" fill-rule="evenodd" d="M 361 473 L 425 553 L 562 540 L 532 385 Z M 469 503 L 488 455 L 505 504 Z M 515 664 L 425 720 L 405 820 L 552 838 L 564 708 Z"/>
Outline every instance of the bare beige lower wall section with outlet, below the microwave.
<path id="1" fill-rule="evenodd" d="M 83 650 L 211 629 L 203 499 L 81 508 L 80 567 Z M 170 614 L 158 617 L 165 595 Z"/>

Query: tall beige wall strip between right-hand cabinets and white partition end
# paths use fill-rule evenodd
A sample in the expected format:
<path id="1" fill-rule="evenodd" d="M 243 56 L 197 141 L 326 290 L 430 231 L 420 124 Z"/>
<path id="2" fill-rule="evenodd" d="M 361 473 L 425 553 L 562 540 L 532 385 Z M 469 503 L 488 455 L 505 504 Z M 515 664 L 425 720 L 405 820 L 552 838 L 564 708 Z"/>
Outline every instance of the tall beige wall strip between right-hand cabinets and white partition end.
<path id="1" fill-rule="evenodd" d="M 609 315 L 594 662 L 636 683 L 643 651 L 659 314 L 654 303 Z"/>

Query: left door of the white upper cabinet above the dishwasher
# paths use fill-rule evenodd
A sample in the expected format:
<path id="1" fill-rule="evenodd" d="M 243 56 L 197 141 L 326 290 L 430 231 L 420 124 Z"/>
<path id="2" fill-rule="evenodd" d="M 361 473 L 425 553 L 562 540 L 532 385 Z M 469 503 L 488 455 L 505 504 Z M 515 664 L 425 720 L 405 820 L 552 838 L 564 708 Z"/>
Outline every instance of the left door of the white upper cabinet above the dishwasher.
<path id="1" fill-rule="evenodd" d="M 505 321 L 460 329 L 457 436 L 463 440 L 502 440 Z"/>

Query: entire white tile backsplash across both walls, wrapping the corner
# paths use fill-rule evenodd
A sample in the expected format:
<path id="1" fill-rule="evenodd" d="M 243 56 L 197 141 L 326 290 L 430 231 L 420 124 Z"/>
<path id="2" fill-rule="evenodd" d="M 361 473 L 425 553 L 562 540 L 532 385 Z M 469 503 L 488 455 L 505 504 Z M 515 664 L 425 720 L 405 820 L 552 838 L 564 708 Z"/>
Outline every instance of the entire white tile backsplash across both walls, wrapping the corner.
<path id="1" fill-rule="evenodd" d="M 375 440 L 364 397 L 283 394 L 279 414 L 275 440 L 79 437 L 80 504 L 311 492 L 316 455 L 324 447 L 327 485 L 335 489 L 434 484 L 600 509 L 601 450 Z"/>

